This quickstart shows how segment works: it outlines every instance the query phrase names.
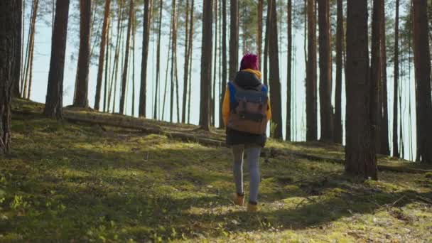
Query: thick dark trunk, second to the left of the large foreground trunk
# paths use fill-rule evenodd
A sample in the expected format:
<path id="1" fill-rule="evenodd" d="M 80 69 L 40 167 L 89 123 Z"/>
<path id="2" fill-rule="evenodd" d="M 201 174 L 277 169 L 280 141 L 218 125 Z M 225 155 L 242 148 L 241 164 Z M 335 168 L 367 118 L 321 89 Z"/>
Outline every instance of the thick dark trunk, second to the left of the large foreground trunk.
<path id="1" fill-rule="evenodd" d="M 331 102 L 331 55 L 330 55 L 330 3 L 318 1 L 319 52 L 320 52 L 320 125 L 321 141 L 333 141 Z"/>

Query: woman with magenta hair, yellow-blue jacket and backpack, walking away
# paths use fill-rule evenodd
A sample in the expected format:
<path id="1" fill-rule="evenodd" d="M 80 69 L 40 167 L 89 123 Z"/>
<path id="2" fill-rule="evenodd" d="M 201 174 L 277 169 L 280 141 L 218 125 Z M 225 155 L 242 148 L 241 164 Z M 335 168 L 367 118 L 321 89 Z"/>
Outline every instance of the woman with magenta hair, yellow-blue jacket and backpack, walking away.
<path id="1" fill-rule="evenodd" d="M 259 190 L 259 156 L 266 144 L 267 123 L 271 119 L 268 89 L 261 82 L 258 57 L 246 54 L 235 79 L 228 82 L 222 105 L 227 127 L 227 146 L 234 157 L 234 182 L 236 193 L 232 195 L 235 205 L 244 205 L 243 156 L 249 164 L 248 212 L 257 212 Z"/>

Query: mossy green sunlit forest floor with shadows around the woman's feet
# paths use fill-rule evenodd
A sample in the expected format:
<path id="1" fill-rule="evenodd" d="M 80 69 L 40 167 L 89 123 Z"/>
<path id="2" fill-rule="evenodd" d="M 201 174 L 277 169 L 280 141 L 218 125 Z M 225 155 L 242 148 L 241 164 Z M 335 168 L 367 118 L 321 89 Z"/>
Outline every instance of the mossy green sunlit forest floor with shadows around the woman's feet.
<path id="1" fill-rule="evenodd" d="M 42 107 L 13 105 L 13 151 L 0 161 L 0 242 L 432 241 L 431 167 L 381 156 L 381 165 L 419 170 L 384 170 L 378 181 L 361 180 L 343 173 L 340 146 L 269 141 L 261 212 L 250 214 L 228 199 L 234 190 L 228 148 L 57 122 L 38 114 Z M 222 131 L 142 122 L 223 138 Z"/>

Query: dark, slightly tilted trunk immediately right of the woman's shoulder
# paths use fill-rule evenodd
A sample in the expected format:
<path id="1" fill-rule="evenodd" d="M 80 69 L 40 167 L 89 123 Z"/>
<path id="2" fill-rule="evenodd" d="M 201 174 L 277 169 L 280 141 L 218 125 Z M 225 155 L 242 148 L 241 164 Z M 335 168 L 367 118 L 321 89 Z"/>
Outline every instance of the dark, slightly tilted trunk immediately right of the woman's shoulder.
<path id="1" fill-rule="evenodd" d="M 282 107 L 281 107 L 281 78 L 279 77 L 279 44 L 278 19 L 276 14 L 276 0 L 269 0 L 271 15 L 269 20 L 269 89 L 271 112 L 273 114 L 271 137 L 282 139 Z"/>

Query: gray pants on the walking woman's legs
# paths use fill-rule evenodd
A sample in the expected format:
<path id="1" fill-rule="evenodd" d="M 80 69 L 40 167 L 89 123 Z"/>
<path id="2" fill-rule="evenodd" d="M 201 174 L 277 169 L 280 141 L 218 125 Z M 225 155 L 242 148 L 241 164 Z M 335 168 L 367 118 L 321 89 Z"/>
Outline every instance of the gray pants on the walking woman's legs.
<path id="1" fill-rule="evenodd" d="M 234 156 L 234 182 L 236 192 L 243 194 L 243 153 L 246 152 L 247 163 L 249 164 L 249 202 L 257 202 L 259 188 L 259 154 L 261 153 L 260 146 L 232 146 L 232 154 Z"/>

